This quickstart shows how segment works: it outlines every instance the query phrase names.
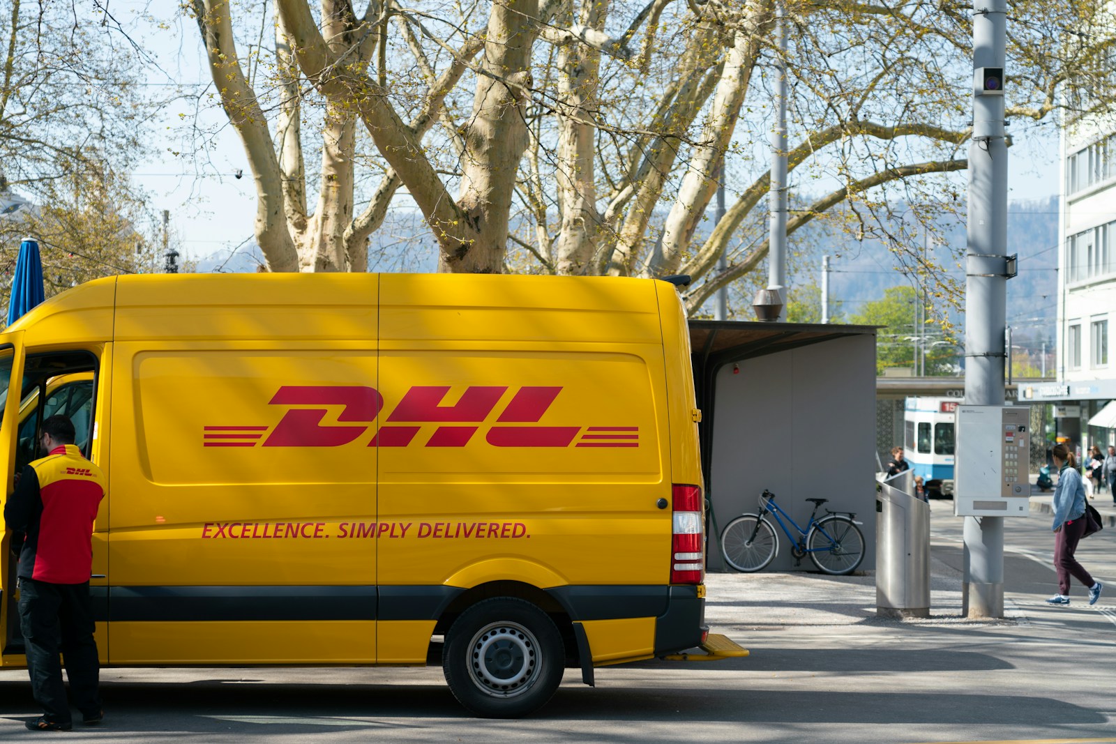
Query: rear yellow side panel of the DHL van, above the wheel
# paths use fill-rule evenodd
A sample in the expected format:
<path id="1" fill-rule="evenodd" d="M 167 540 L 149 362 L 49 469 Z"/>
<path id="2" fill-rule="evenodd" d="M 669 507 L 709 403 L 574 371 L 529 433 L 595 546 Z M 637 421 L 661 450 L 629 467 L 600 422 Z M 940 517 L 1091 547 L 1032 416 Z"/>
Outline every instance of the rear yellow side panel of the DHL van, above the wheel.
<path id="1" fill-rule="evenodd" d="M 382 612 L 391 599 L 400 619 L 426 619 L 425 595 L 446 583 L 536 578 L 608 587 L 562 595 L 585 619 L 626 591 L 660 591 L 664 607 L 671 513 L 656 502 L 671 496 L 670 437 L 653 283 L 452 279 L 382 277 L 379 510 L 400 530 L 378 542 L 378 583 L 413 587 L 382 595 Z"/>

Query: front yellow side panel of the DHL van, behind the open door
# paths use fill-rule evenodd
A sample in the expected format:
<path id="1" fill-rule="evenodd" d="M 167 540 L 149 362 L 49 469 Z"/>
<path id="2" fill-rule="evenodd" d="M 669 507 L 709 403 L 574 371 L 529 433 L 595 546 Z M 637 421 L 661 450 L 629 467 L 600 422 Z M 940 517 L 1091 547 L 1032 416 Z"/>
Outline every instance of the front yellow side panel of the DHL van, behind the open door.
<path id="1" fill-rule="evenodd" d="M 375 280 L 122 279 L 113 664 L 375 661 Z"/>

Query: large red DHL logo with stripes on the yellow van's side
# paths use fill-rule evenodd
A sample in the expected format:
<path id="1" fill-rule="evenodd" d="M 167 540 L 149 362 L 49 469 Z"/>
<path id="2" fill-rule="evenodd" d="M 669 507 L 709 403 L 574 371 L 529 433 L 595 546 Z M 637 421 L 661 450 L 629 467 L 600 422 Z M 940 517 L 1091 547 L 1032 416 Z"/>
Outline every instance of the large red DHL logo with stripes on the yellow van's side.
<path id="1" fill-rule="evenodd" d="M 458 403 L 442 405 L 450 386 L 415 386 L 376 429 L 369 447 L 405 447 L 424 424 L 441 424 L 426 439 L 427 447 L 463 447 L 484 425 L 508 390 L 507 386 L 465 389 Z M 526 386 L 487 426 L 484 441 L 494 447 L 638 447 L 638 426 L 539 426 L 561 387 Z M 374 387 L 285 385 L 269 402 L 290 408 L 270 426 L 205 426 L 206 447 L 339 447 L 360 438 L 384 408 L 384 396 Z M 343 406 L 336 425 L 323 425 L 329 413 L 323 406 Z"/>

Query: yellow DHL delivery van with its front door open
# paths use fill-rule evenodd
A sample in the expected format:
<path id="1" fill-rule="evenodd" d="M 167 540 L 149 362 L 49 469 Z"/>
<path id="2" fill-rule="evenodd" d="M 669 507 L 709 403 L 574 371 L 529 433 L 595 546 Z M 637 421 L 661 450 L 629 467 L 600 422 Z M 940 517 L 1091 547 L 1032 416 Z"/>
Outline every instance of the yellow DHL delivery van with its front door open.
<path id="1" fill-rule="evenodd" d="M 471 711 L 517 716 L 567 666 L 593 684 L 703 642 L 745 653 L 706 640 L 670 283 L 109 278 L 0 334 L 0 386 L 21 403 L 0 421 L 6 496 L 27 422 L 59 410 L 107 474 L 104 665 L 441 664 Z M 25 664 L 16 549 L 6 530 L 4 666 Z"/>

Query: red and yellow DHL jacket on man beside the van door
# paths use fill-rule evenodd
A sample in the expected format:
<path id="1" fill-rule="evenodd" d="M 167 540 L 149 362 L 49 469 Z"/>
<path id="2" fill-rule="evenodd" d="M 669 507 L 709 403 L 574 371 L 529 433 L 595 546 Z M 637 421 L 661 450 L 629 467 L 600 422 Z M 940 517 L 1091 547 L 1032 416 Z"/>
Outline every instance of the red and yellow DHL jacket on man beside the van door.
<path id="1" fill-rule="evenodd" d="M 8 529 L 26 532 L 17 576 L 84 583 L 93 568 L 93 522 L 105 496 L 105 474 L 73 444 L 23 468 L 3 510 Z"/>

